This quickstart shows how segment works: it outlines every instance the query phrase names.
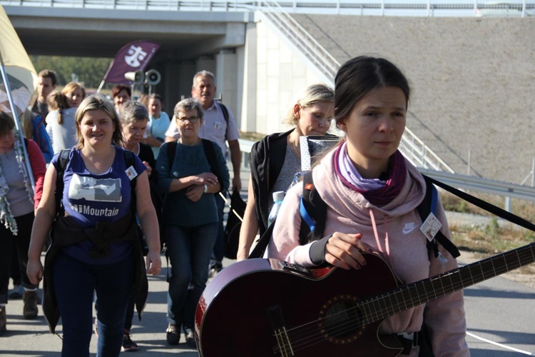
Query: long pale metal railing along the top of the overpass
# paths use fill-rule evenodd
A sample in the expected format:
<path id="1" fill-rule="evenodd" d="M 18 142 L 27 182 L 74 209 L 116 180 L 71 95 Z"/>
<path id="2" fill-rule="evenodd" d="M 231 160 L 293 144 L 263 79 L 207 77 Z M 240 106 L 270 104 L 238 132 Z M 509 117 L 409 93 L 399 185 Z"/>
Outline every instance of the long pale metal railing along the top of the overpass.
<path id="1" fill-rule="evenodd" d="M 250 0 L 0 0 L 1 5 L 57 8 L 154 11 L 257 11 L 273 6 Z M 300 14 L 372 16 L 535 16 L 533 0 L 295 0 L 278 2 L 280 9 Z"/>

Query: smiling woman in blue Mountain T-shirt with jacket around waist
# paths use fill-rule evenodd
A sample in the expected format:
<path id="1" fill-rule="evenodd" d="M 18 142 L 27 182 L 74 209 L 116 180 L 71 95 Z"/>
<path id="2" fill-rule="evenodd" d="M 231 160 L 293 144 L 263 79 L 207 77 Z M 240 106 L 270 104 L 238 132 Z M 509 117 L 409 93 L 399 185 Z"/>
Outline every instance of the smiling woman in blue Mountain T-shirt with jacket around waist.
<path id="1" fill-rule="evenodd" d="M 46 171 L 26 272 L 32 283 L 44 276 L 43 311 L 52 332 L 61 316 L 62 356 L 89 356 L 93 291 L 98 298 L 97 356 L 118 356 L 132 288 L 141 314 L 146 273 L 156 275 L 161 269 L 158 220 L 146 166 L 121 148 L 121 124 L 105 97 L 82 101 L 76 136 L 78 144 L 54 156 Z M 136 215 L 148 242 L 146 264 Z M 50 228 L 53 243 L 43 270 L 40 256 Z"/>

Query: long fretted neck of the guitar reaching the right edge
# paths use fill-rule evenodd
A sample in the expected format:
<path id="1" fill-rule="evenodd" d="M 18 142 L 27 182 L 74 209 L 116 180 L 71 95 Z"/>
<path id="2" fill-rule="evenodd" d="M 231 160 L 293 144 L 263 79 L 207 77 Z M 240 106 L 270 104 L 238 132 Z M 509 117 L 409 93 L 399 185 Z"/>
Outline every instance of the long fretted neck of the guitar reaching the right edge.
<path id="1" fill-rule="evenodd" d="M 481 283 L 534 261 L 535 243 L 531 243 L 416 283 L 400 286 L 392 292 L 362 301 L 360 308 L 365 313 L 362 319 L 365 324 L 382 321 L 395 313 Z"/>

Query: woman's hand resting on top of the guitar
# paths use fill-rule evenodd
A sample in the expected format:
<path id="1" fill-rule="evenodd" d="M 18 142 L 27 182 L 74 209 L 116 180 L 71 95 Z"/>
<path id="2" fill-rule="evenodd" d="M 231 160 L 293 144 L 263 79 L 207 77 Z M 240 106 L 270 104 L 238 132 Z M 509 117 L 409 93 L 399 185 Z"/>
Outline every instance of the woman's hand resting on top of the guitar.
<path id="1" fill-rule="evenodd" d="M 371 252 L 372 247 L 360 241 L 362 234 L 335 232 L 325 246 L 325 261 L 342 269 L 360 269 L 366 265 L 362 252 Z"/>

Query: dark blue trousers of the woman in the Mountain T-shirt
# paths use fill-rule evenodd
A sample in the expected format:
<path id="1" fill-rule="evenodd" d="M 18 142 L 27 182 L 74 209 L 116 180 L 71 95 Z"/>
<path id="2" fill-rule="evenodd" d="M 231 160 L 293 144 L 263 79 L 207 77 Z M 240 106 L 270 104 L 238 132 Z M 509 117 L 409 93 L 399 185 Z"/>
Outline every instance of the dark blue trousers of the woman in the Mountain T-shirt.
<path id="1" fill-rule="evenodd" d="M 63 324 L 61 356 L 89 356 L 93 333 L 93 291 L 98 298 L 96 356 L 119 356 L 133 277 L 132 254 L 117 263 L 98 265 L 58 253 L 54 260 L 53 280 Z"/>

